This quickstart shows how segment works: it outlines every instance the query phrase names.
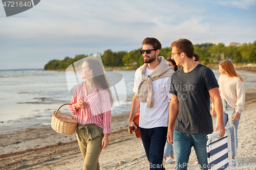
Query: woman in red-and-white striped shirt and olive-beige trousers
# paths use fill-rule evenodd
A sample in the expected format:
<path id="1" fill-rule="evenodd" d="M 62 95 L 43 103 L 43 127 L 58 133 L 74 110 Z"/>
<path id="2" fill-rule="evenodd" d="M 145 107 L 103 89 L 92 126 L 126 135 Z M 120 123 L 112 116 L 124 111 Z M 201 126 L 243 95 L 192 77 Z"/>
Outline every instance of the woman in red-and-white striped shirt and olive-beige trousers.
<path id="1" fill-rule="evenodd" d="M 76 136 L 84 159 L 84 169 L 99 169 L 99 155 L 108 147 L 111 133 L 112 93 L 103 68 L 97 59 L 86 59 L 74 91 L 69 111 L 78 121 Z"/>

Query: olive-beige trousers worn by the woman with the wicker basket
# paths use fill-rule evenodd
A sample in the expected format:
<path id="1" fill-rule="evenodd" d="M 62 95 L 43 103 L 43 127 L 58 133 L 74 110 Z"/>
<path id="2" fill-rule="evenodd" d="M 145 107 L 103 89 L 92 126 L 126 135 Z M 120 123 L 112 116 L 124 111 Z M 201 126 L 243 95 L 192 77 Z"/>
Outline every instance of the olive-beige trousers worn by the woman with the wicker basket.
<path id="1" fill-rule="evenodd" d="M 95 124 L 77 125 L 76 137 L 84 160 L 83 170 L 99 170 L 103 129 Z"/>

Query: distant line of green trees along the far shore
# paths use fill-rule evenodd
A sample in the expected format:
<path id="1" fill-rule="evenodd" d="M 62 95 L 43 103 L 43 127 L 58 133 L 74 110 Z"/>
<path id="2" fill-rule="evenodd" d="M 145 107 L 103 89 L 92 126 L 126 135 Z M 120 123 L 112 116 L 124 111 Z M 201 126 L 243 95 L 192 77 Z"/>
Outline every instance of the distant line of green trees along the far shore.
<path id="1" fill-rule="evenodd" d="M 248 44 L 232 42 L 229 46 L 225 46 L 223 43 L 218 45 L 203 43 L 195 44 L 194 46 L 195 52 L 200 55 L 200 63 L 202 64 L 218 63 L 222 59 L 230 59 L 234 63 L 256 62 L 256 41 Z M 137 68 L 144 63 L 140 49 L 138 48 L 138 50 L 133 50 L 129 53 L 106 50 L 101 55 L 101 59 L 105 67 L 131 66 Z M 161 49 L 159 56 L 164 56 L 166 59 L 170 57 L 170 53 L 172 53 L 172 48 L 165 47 Z M 66 69 L 69 65 L 84 57 L 88 57 L 88 55 L 76 55 L 75 58 L 65 57 L 63 60 L 51 60 L 45 65 L 45 69 Z"/>

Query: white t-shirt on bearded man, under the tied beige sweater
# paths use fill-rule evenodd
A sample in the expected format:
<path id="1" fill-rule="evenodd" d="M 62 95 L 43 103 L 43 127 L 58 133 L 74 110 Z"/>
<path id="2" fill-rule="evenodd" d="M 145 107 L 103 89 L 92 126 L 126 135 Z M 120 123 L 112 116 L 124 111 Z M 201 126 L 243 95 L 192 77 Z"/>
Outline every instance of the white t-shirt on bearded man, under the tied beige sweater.
<path id="1" fill-rule="evenodd" d="M 148 67 L 146 67 L 145 75 L 150 75 L 152 71 L 154 70 L 148 69 Z M 140 102 L 139 127 L 145 129 L 168 127 L 168 100 L 171 96 L 169 93 L 170 78 L 171 77 L 160 78 L 152 82 L 154 98 L 153 108 L 147 108 L 146 102 Z M 141 79 L 141 71 L 140 68 L 138 68 L 135 72 L 134 78 L 133 91 L 135 93 L 138 93 L 138 86 Z"/>

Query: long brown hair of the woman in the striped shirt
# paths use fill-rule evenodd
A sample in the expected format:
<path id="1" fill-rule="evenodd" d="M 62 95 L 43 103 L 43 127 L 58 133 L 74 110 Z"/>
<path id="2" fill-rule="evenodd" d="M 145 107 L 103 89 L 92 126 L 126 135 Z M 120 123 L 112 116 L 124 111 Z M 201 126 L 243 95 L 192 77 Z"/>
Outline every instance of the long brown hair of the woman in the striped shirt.
<path id="1" fill-rule="evenodd" d="M 112 106 L 113 103 L 114 103 L 114 99 L 113 99 L 113 96 L 112 96 L 112 92 L 110 90 L 108 77 L 106 77 L 106 75 L 104 74 L 103 67 L 100 64 L 99 60 L 88 58 L 84 62 L 87 62 L 89 69 L 92 69 L 92 73 L 93 73 L 93 78 L 92 79 L 93 79 L 93 82 L 96 85 L 97 93 L 99 94 L 98 87 L 101 87 L 103 90 L 108 91 L 109 94 L 110 94 L 110 103 L 111 103 L 111 106 Z M 100 95 L 99 95 L 99 98 L 101 99 Z"/>

